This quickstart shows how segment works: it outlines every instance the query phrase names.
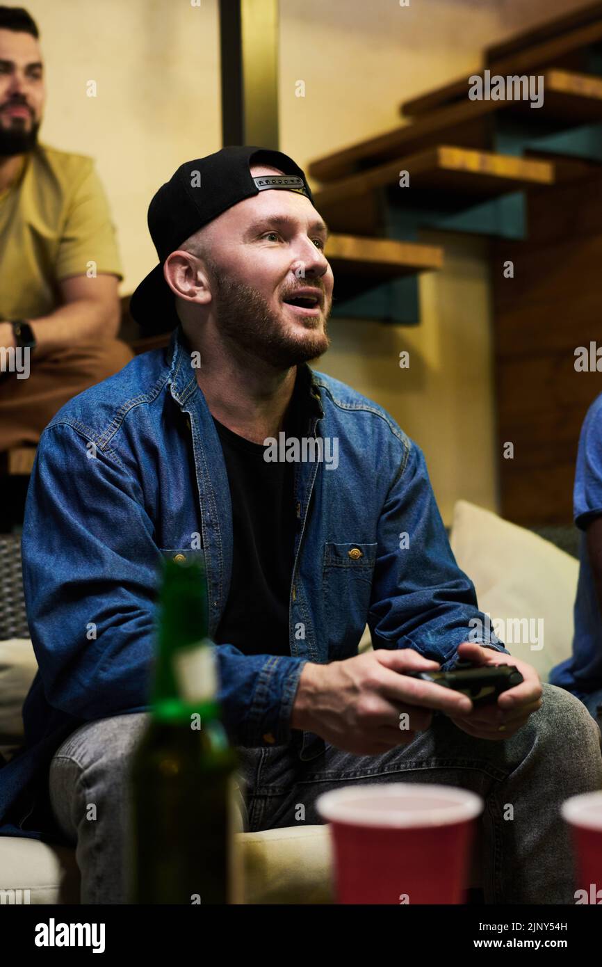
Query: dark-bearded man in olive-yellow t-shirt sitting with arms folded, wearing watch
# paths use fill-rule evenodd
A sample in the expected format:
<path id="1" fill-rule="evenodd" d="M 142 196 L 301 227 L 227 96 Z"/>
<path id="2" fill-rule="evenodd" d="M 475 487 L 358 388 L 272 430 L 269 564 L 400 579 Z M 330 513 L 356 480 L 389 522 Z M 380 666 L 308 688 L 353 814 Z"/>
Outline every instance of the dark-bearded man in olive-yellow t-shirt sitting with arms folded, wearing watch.
<path id="1" fill-rule="evenodd" d="M 67 400 L 133 357 L 93 162 L 38 142 L 38 38 L 26 11 L 0 7 L 0 452 L 36 445 Z"/>

